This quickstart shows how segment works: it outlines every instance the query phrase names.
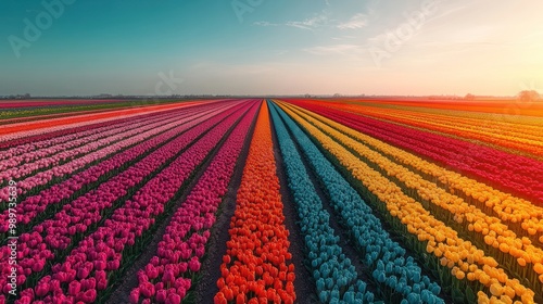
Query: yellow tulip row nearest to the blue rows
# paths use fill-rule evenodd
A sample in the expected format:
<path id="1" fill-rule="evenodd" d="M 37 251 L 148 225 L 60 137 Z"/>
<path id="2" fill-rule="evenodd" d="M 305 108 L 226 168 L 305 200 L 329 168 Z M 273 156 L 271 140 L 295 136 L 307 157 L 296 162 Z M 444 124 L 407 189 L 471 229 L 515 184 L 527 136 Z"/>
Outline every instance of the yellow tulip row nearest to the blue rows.
<path id="1" fill-rule="evenodd" d="M 454 229 L 433 217 L 421 203 L 407 197 L 394 182 L 370 168 L 343 145 L 303 119 L 298 114 L 300 112 L 291 111 L 294 107 L 287 106 L 285 103 L 279 104 L 318 140 L 324 149 L 331 153 L 351 173 L 355 180 L 362 182 L 378 199 L 381 207 L 383 207 L 382 203 L 384 203 L 386 211 L 390 216 L 400 220 L 405 226 L 405 230 L 418 239 L 420 243 L 426 242 L 428 253 L 433 254 L 437 258 L 445 257 L 447 258 L 447 266 L 453 268 L 456 266 L 462 269 L 464 276 L 456 270 L 456 279 L 477 280 L 480 284 L 487 287 L 489 291 L 491 291 L 492 286 L 501 287 L 502 292 L 508 292 L 509 295 L 513 295 L 513 299 L 519 299 L 523 303 L 534 303 L 533 296 L 535 293 L 521 284 L 518 279 L 510 279 L 503 268 L 497 267 L 498 263 L 493 257 L 485 256 L 484 252 L 477 249 L 470 241 L 459 238 Z M 450 261 L 452 263 L 449 263 Z"/>

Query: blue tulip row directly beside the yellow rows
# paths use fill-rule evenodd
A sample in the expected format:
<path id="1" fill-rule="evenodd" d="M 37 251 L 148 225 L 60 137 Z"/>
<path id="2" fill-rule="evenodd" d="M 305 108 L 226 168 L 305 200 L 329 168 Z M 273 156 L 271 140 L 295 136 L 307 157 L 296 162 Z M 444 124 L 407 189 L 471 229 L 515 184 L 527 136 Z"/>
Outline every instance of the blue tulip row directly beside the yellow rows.
<path id="1" fill-rule="evenodd" d="M 279 110 L 279 115 L 299 142 L 330 204 L 340 215 L 341 225 L 351 232 L 364 256 L 365 266 L 372 269 L 375 281 L 383 286 L 381 292 L 397 292 L 407 303 L 444 303 L 438 296 L 440 286 L 421 275 L 417 263 L 412 256 L 406 257 L 405 249 L 390 238 L 356 190 L 283 111 Z"/>

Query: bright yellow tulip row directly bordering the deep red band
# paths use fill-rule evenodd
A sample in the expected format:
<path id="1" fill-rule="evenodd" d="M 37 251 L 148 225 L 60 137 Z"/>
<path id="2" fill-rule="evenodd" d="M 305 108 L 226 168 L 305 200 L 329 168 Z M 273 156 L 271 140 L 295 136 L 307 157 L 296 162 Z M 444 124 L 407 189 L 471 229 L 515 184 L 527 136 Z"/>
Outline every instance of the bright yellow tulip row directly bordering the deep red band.
<path id="1" fill-rule="evenodd" d="M 463 199 L 468 204 L 476 205 L 487 215 L 495 216 L 502 221 L 507 223 L 517 235 L 528 237 L 530 239 L 528 244 L 538 242 L 538 238 L 539 242 L 543 244 L 543 207 L 533 205 L 527 200 L 513 197 L 485 183 L 425 161 L 415 154 L 397 149 L 370 136 L 366 136 L 321 115 L 304 109 L 300 109 L 300 111 L 356 139 L 356 141 L 363 142 L 372 150 L 394 160 L 394 162 L 418 173 L 426 179 L 438 185 L 443 185 L 444 188 L 449 188 L 451 194 L 462 194 Z M 464 216 L 460 215 L 458 218 L 462 220 L 463 217 Z M 470 219 L 469 221 L 473 220 Z M 482 229 L 484 229 L 484 227 L 482 227 Z"/>

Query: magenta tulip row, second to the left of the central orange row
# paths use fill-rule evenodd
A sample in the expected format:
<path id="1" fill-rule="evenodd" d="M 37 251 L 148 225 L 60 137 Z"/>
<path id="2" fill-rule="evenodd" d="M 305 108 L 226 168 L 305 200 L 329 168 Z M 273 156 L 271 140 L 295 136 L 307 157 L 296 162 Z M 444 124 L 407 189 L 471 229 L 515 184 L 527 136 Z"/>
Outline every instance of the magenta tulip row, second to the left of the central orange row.
<path id="1" fill-rule="evenodd" d="M 247 105 L 243 109 L 247 111 Z M 149 180 L 123 207 L 115 210 L 111 218 L 79 242 L 62 264 L 52 267 L 52 276 L 42 278 L 34 289 L 22 291 L 21 300 L 15 303 L 97 301 L 98 292 L 108 288 L 109 277 L 122 267 L 124 254 L 130 255 L 132 246 L 155 225 L 156 217 L 165 212 L 192 172 L 245 112 L 237 110 Z M 192 267 L 197 269 L 199 265 L 192 263 Z M 184 288 L 186 282 L 178 281 L 177 286 Z M 180 299 L 172 300 L 180 303 Z"/>

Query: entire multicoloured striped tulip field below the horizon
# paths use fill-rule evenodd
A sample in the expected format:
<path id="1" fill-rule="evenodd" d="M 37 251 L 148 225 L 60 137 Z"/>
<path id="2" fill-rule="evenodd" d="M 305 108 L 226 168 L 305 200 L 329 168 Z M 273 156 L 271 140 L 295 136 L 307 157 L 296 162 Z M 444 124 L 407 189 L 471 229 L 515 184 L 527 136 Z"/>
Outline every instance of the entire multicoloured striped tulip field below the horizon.
<path id="1" fill-rule="evenodd" d="M 543 303 L 542 104 L 0 113 L 0 304 Z"/>

